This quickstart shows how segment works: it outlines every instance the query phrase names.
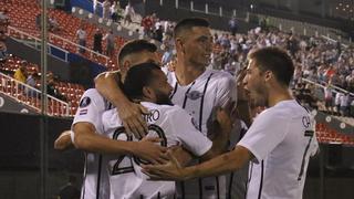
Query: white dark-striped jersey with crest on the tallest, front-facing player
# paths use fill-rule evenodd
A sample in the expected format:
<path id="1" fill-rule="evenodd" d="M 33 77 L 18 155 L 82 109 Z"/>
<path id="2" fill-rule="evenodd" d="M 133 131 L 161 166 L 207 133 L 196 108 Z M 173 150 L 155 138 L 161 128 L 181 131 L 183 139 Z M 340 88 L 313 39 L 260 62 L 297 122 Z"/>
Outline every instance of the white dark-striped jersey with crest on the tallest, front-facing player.
<path id="1" fill-rule="evenodd" d="M 236 80 L 229 73 L 206 70 L 197 80 L 185 86 L 178 84 L 174 72 L 166 72 L 166 75 L 168 83 L 174 87 L 173 103 L 186 109 L 196 119 L 198 129 L 205 136 L 212 108 L 237 100 Z M 178 197 L 225 198 L 226 184 L 225 176 L 188 180 L 178 184 Z"/>

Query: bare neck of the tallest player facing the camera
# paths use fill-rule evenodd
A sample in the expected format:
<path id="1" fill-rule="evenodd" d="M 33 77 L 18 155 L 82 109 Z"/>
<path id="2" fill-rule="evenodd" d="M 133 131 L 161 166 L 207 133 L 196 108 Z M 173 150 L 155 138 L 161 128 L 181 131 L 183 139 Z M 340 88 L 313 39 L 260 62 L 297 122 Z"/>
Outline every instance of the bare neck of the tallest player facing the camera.
<path id="1" fill-rule="evenodd" d="M 175 74 L 179 85 L 184 86 L 192 83 L 205 71 L 205 67 L 198 67 L 186 62 L 177 62 Z"/>

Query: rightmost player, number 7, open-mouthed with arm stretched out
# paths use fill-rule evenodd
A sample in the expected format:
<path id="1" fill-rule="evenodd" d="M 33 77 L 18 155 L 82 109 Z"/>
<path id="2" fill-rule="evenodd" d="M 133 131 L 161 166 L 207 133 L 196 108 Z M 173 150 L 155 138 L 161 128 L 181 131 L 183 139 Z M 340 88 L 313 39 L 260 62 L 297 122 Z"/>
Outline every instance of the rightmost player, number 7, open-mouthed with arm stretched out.
<path id="1" fill-rule="evenodd" d="M 280 49 L 251 52 L 246 90 L 256 102 L 266 100 L 268 109 L 256 117 L 236 148 L 200 165 L 147 165 L 143 166 L 144 172 L 157 179 L 185 180 L 238 170 L 250 161 L 248 199 L 301 199 L 309 159 L 317 151 L 317 142 L 314 119 L 289 92 L 293 72 L 291 57 Z"/>

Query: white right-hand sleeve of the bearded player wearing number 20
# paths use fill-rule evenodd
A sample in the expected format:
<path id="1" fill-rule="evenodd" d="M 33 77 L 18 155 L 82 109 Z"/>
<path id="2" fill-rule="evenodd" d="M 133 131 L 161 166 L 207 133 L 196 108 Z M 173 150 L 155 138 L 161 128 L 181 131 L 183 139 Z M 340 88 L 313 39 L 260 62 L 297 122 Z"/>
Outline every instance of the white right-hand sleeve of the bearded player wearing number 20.
<path id="1" fill-rule="evenodd" d="M 211 140 L 196 128 L 192 117 L 183 108 L 176 106 L 168 123 L 171 127 L 171 134 L 176 136 L 183 147 L 195 156 L 202 156 L 211 148 Z"/>

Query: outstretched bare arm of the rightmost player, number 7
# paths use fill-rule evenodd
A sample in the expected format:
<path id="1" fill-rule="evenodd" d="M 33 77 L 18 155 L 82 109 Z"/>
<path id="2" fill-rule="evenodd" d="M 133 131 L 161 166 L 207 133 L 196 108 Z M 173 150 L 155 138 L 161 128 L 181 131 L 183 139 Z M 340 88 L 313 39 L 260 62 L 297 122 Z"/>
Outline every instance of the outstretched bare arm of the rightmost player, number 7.
<path id="1" fill-rule="evenodd" d="M 169 153 L 170 161 L 165 165 L 144 165 L 143 172 L 156 180 L 187 180 L 197 177 L 218 176 L 223 172 L 236 171 L 253 155 L 242 146 L 236 146 L 232 151 L 217 156 L 200 165 L 183 168 L 177 159 Z"/>

